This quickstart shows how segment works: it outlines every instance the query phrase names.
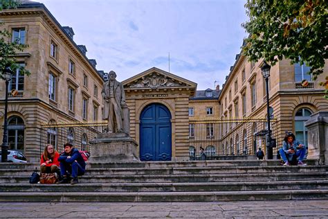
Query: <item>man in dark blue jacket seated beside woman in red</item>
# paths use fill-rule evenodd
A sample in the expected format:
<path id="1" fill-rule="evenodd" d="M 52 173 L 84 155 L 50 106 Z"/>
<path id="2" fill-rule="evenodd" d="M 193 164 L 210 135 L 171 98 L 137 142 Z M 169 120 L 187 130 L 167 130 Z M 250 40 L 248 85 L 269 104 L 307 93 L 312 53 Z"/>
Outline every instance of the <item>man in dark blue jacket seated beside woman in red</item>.
<path id="1" fill-rule="evenodd" d="M 69 183 L 68 175 L 71 175 L 73 177 L 71 184 L 77 184 L 78 175 L 83 175 L 85 172 L 85 161 L 79 150 L 73 148 L 71 143 L 65 143 L 64 152 L 62 152 L 58 161 L 60 161 L 60 174 L 62 175 L 62 180 L 58 183 Z"/>

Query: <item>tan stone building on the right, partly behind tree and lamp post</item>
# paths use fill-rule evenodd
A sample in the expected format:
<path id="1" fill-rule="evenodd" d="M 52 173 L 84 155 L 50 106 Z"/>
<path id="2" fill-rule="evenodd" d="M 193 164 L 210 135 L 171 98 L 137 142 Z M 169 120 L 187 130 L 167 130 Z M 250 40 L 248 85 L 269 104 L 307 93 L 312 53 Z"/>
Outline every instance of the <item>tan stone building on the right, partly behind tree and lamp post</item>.
<path id="1" fill-rule="evenodd" d="M 262 76 L 262 65 L 263 60 L 248 62 L 244 55 L 236 55 L 235 64 L 230 68 L 219 95 L 221 118 L 266 118 L 266 82 Z M 327 66 L 326 61 L 324 73 L 317 80 L 311 80 L 307 74 L 309 67 L 305 64 L 281 60 L 271 67 L 268 88 L 270 106 L 277 121 L 277 147 L 282 146 L 287 131 L 293 132 L 307 146 L 304 122 L 311 114 L 328 110 L 328 101 L 323 97 L 325 89 L 319 85 L 328 75 Z M 304 80 L 308 84 L 305 82 L 302 85 Z M 255 128 L 253 133 L 257 131 Z"/>

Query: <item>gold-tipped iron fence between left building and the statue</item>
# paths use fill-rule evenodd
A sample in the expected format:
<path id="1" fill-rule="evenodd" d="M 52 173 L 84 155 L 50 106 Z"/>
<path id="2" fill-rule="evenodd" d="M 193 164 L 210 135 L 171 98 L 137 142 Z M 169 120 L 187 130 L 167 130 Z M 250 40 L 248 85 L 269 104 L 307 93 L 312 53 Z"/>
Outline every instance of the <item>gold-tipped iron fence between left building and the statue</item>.
<path id="1" fill-rule="evenodd" d="M 58 152 L 64 151 L 64 144 L 70 142 L 79 150 L 90 151 L 90 140 L 104 132 L 107 121 L 71 121 L 44 123 L 41 128 L 40 155 L 48 143 Z"/>

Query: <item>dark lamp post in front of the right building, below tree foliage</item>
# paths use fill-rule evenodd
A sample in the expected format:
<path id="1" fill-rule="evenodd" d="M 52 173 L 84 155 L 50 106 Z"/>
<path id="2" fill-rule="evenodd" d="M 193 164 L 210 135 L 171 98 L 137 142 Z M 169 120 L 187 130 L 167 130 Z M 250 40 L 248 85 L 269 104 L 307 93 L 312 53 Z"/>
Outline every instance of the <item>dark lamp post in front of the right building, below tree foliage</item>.
<path id="1" fill-rule="evenodd" d="M 270 127 L 270 106 L 268 103 L 268 77 L 270 77 L 270 69 L 271 66 L 264 61 L 263 66 L 261 67 L 262 70 L 262 76 L 265 79 L 266 83 L 266 114 L 267 114 L 267 120 L 268 120 L 268 132 L 266 133 L 266 156 L 267 159 L 273 159 L 273 147 L 274 144 L 271 139 L 271 127 Z"/>

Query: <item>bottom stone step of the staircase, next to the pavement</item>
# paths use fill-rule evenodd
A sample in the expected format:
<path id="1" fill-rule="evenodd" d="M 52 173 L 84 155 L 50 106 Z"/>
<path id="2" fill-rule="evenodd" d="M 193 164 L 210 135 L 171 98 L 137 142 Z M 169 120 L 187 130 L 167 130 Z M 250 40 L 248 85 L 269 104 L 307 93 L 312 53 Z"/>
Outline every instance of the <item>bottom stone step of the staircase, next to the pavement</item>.
<path id="1" fill-rule="evenodd" d="M 206 192 L 4 192 L 0 202 L 221 202 L 327 199 L 327 189 Z"/>

